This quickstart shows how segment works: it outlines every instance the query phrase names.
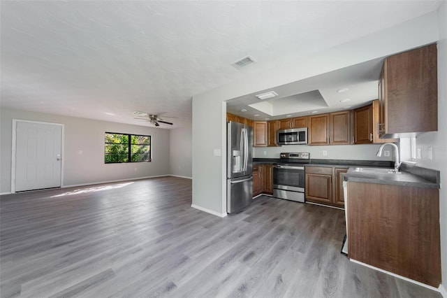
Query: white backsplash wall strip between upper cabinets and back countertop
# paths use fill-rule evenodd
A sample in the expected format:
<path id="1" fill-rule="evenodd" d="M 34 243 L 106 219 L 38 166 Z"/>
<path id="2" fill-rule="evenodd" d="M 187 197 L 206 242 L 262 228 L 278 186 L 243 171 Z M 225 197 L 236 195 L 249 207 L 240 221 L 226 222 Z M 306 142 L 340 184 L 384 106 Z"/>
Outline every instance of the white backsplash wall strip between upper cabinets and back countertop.
<path id="1" fill-rule="evenodd" d="M 376 157 L 377 150 L 381 144 L 367 145 L 333 145 L 333 146 L 307 146 L 287 145 L 281 147 L 256 147 L 254 157 L 256 158 L 279 158 L 280 152 L 310 152 L 310 157 L 315 159 L 353 159 L 353 160 L 394 160 L 393 148 L 384 148 L 390 151 L 390 157 Z M 326 151 L 328 155 L 323 155 Z M 265 154 L 264 154 L 265 153 Z"/>

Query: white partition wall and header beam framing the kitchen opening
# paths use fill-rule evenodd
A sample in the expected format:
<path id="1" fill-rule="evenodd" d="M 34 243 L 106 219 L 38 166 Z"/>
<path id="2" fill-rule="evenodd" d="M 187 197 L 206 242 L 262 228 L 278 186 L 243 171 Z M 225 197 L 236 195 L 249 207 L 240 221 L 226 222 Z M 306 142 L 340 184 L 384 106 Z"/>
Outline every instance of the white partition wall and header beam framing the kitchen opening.
<path id="1" fill-rule="evenodd" d="M 223 101 L 433 43 L 437 41 L 437 31 L 437 15 L 430 13 L 194 96 L 193 204 L 215 213 L 226 213 L 223 204 L 225 155 L 213 155 L 215 148 L 225 152 L 222 115 L 226 108 Z"/>

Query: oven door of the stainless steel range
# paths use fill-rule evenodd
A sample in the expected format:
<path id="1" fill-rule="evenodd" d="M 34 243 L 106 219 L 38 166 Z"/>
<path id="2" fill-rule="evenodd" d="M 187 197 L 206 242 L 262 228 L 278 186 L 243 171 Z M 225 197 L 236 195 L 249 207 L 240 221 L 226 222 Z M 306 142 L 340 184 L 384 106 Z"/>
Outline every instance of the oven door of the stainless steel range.
<path id="1" fill-rule="evenodd" d="M 279 190 L 305 191 L 305 167 L 277 164 L 273 168 L 273 187 Z"/>

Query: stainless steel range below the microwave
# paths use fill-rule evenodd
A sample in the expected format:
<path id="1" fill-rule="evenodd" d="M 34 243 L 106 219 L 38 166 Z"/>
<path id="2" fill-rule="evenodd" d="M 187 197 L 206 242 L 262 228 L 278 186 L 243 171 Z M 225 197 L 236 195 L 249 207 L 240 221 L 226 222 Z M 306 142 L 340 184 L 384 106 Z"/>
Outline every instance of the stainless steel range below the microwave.
<path id="1" fill-rule="evenodd" d="M 309 152 L 284 152 L 273 167 L 273 197 L 305 201 L 305 164 Z"/>

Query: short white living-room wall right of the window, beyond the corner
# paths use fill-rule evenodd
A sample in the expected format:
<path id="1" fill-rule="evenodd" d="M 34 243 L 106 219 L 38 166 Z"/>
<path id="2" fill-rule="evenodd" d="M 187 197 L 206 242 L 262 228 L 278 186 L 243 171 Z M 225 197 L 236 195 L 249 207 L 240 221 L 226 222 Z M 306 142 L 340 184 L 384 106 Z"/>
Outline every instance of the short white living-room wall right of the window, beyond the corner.
<path id="1" fill-rule="evenodd" d="M 192 136 L 191 126 L 170 130 L 169 162 L 172 175 L 192 178 Z"/>

